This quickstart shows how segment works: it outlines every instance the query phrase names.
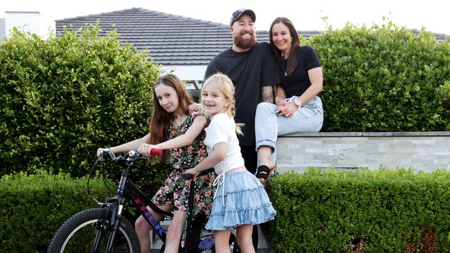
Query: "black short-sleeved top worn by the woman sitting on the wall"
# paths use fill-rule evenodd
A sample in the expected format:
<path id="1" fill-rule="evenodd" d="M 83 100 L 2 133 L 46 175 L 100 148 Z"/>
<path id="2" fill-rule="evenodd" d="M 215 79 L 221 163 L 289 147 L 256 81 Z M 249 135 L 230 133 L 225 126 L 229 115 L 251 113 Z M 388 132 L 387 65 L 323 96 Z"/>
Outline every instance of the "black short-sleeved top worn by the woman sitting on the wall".
<path id="1" fill-rule="evenodd" d="M 296 50 L 298 50 L 298 65 L 289 77 L 285 76 L 289 58 L 278 64 L 281 86 L 285 90 L 286 97 L 293 95 L 300 97 L 311 86 L 308 71 L 321 66 L 316 50 L 311 46 L 298 46 Z"/>

